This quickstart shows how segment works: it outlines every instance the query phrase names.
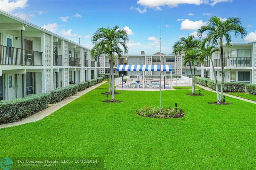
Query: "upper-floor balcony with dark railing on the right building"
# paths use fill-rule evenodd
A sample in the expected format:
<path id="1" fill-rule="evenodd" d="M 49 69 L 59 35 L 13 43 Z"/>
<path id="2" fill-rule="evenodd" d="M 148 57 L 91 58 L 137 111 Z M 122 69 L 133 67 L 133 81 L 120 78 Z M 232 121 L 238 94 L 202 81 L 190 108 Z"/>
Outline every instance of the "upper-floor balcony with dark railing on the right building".
<path id="1" fill-rule="evenodd" d="M 252 57 L 224 58 L 224 67 L 252 67 Z M 214 67 L 221 67 L 221 59 L 214 60 Z"/>

